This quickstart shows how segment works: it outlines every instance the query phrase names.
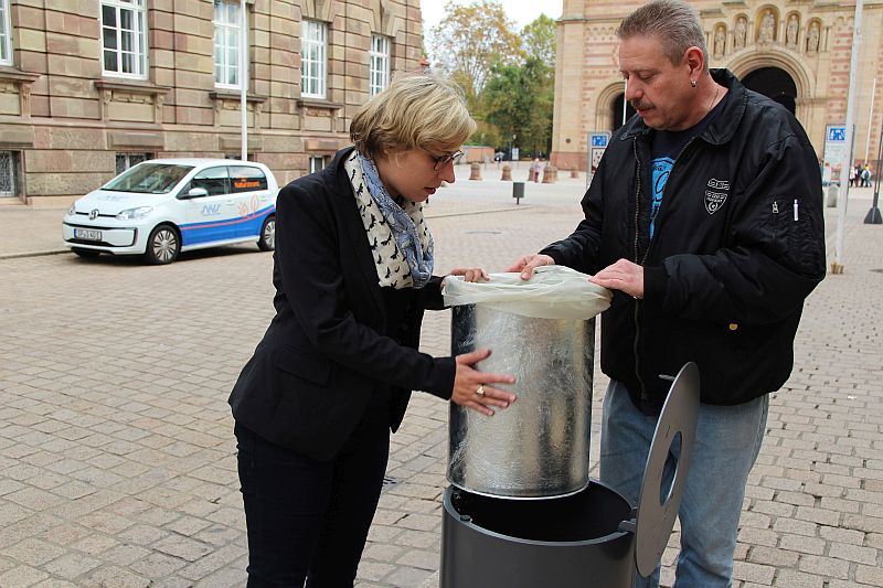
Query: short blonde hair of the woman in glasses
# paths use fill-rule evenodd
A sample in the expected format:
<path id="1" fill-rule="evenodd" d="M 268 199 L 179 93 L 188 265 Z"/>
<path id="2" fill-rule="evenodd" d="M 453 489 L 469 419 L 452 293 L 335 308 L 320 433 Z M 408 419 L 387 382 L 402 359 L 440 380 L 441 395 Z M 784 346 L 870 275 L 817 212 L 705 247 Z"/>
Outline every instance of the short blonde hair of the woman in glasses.
<path id="1" fill-rule="evenodd" d="M 363 156 L 385 157 L 408 149 L 456 149 L 476 130 L 462 90 L 435 74 L 398 74 L 368 100 L 350 124 Z"/>

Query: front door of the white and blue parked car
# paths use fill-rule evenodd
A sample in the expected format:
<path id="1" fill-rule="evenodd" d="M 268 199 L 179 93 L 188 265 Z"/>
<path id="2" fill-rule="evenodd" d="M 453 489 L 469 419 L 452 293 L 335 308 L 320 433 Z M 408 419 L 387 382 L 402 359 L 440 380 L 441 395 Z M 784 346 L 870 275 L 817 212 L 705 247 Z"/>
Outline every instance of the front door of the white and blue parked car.
<path id="1" fill-rule="evenodd" d="M 206 195 L 190 196 L 194 188 Z M 179 196 L 183 199 L 185 223 L 181 225 L 183 247 L 204 245 L 236 237 L 238 212 L 231 194 L 230 173 L 226 165 L 214 165 L 198 172 Z"/>

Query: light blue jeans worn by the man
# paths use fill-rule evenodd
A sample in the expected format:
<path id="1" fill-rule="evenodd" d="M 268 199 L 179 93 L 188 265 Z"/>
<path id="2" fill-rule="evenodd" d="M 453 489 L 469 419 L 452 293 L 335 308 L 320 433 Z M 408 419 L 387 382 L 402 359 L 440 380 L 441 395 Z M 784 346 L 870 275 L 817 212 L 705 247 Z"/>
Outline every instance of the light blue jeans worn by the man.
<path id="1" fill-rule="evenodd" d="M 678 512 L 677 588 L 731 586 L 745 484 L 760 450 L 768 407 L 768 395 L 736 406 L 700 406 L 693 462 Z M 657 417 L 635 407 L 623 383 L 610 382 L 602 416 L 600 480 L 632 504 L 640 495 L 656 423 Z M 679 448 L 672 447 L 672 452 L 677 458 Z M 659 586 L 659 566 L 649 578 L 636 571 L 635 586 Z"/>

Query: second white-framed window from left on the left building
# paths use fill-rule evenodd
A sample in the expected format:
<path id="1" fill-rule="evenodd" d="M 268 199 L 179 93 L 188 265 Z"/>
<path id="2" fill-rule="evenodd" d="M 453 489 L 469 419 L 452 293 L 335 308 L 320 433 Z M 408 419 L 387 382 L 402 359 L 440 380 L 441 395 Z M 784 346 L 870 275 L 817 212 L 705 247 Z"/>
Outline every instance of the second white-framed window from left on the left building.
<path id="1" fill-rule="evenodd" d="M 105 75 L 147 77 L 146 0 L 102 0 Z"/>

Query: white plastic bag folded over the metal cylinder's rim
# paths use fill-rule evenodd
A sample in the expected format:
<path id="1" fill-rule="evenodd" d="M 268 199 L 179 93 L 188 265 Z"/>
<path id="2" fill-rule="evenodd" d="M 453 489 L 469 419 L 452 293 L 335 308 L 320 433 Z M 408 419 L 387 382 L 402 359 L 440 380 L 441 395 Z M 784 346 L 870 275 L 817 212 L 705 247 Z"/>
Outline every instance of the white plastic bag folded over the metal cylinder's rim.
<path id="1" fill-rule="evenodd" d="M 480 304 L 533 319 L 587 320 L 607 310 L 610 290 L 588 281 L 589 276 L 564 266 L 536 268 L 530 280 L 520 274 L 491 274 L 490 281 L 445 280 L 445 304 Z"/>

